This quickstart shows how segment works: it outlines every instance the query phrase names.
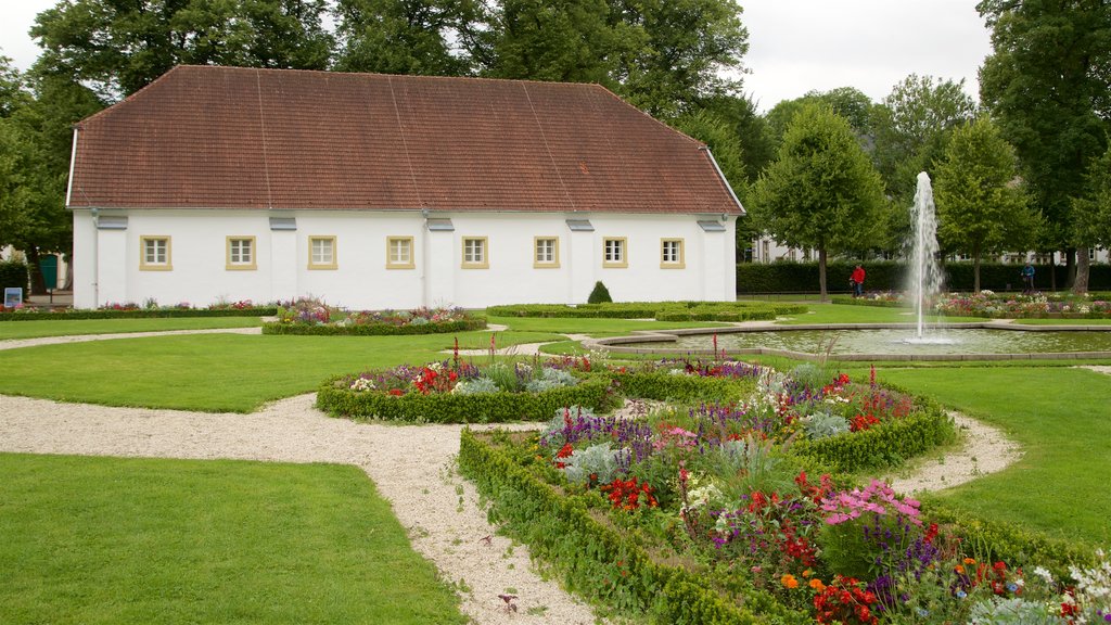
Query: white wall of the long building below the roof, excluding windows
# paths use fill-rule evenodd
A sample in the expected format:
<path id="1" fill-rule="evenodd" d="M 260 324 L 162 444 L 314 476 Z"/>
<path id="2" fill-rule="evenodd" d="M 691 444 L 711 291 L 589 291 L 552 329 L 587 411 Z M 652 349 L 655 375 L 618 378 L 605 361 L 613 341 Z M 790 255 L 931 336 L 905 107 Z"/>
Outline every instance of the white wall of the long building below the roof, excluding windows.
<path id="1" fill-rule="evenodd" d="M 296 230 L 271 229 L 271 217 Z M 354 309 L 587 300 L 601 280 L 614 300 L 732 300 L 734 220 L 722 232 L 698 224 L 720 216 L 442 214 L 432 231 L 416 211 L 76 210 L 74 306 L 162 305 L 314 296 Z M 121 228 L 121 218 L 126 225 Z M 593 231 L 571 231 L 589 219 Z M 98 227 L 99 225 L 99 227 Z M 143 268 L 143 237 L 169 239 L 168 267 Z M 253 238 L 256 267 L 228 267 L 228 237 Z M 310 238 L 334 237 L 334 268 L 310 267 Z M 413 267 L 387 267 L 388 237 L 411 237 Z M 484 238 L 488 267 L 463 267 L 463 239 Z M 558 239 L 559 262 L 533 266 L 536 237 Z M 625 240 L 627 267 L 603 267 L 603 239 Z M 662 239 L 682 241 L 682 268 L 661 267 Z"/>

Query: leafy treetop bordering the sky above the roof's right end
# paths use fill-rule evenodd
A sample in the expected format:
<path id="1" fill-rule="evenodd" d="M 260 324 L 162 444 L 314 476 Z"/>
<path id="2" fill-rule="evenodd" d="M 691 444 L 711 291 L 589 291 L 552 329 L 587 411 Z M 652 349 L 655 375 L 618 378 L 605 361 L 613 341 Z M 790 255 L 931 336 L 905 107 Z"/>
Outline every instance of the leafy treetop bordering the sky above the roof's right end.
<path id="1" fill-rule="evenodd" d="M 622 40 L 614 80 L 633 106 L 658 118 L 690 112 L 703 98 L 740 87 L 748 30 L 735 0 L 609 0 Z"/>

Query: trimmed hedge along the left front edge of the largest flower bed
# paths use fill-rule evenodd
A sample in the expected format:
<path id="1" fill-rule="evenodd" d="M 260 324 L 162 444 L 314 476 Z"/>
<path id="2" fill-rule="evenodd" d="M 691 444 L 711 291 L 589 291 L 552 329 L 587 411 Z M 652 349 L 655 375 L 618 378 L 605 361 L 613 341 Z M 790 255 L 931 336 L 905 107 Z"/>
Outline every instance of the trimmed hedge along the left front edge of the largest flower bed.
<path id="1" fill-rule="evenodd" d="M 811 622 L 760 591 L 747 593 L 741 607 L 714 591 L 711 577 L 652 562 L 632 538 L 591 514 L 597 493 L 560 493 L 469 429 L 460 436 L 459 468 L 490 499 L 491 520 L 503 523 L 533 557 L 554 566 L 572 592 L 661 623 Z"/>

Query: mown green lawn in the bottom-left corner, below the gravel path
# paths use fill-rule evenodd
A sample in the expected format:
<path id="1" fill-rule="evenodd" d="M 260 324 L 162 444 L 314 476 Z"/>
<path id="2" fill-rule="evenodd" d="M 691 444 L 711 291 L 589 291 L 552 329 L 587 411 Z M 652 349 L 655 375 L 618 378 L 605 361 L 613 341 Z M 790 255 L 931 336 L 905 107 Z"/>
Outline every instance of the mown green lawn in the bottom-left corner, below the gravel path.
<path id="1" fill-rule="evenodd" d="M 0 454 L 0 623 L 466 623 L 356 467 Z"/>

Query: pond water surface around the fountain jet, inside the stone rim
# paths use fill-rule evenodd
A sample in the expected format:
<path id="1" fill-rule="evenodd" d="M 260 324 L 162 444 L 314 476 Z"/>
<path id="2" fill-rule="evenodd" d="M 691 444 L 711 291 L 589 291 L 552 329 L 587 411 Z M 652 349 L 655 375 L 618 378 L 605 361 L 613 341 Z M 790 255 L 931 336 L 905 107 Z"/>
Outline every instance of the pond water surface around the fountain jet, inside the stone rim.
<path id="1" fill-rule="evenodd" d="M 990 329 L 939 329 L 909 343 L 913 329 L 781 330 L 718 335 L 718 349 L 763 347 L 810 354 L 1049 354 L 1111 351 L 1111 331 L 1022 331 Z M 712 335 L 680 336 L 675 343 L 638 343 L 630 347 L 665 351 L 713 349 Z M 832 344 L 832 349 L 829 349 Z"/>

